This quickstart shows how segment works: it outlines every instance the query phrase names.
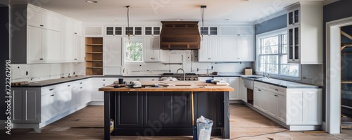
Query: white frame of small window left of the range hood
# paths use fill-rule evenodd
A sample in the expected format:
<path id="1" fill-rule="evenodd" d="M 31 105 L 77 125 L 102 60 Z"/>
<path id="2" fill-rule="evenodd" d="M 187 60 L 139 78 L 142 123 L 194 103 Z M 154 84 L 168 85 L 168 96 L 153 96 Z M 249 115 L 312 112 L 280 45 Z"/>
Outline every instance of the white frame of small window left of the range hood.
<path id="1" fill-rule="evenodd" d="M 130 61 L 126 61 L 126 42 L 142 42 L 142 61 L 139 62 L 130 62 Z M 140 65 L 144 65 L 145 61 L 144 61 L 144 48 L 145 48 L 145 42 L 144 42 L 144 38 L 143 37 L 130 37 L 130 39 L 128 39 L 128 37 L 124 37 L 123 38 L 123 62 L 124 64 L 140 64 Z"/>

